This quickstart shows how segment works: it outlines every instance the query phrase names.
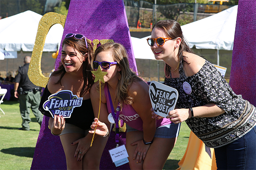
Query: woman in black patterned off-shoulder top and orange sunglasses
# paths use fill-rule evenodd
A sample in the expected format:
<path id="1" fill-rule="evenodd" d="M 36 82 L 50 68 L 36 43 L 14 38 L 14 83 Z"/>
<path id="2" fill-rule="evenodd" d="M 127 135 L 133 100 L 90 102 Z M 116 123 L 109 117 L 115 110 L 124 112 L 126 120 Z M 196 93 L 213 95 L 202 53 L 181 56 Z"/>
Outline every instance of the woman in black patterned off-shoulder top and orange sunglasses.
<path id="1" fill-rule="evenodd" d="M 148 44 L 155 58 L 166 63 L 165 84 L 179 92 L 167 118 L 186 121 L 207 147 L 215 148 L 218 169 L 255 170 L 255 107 L 233 92 L 212 63 L 194 54 L 176 21 L 157 22 Z"/>

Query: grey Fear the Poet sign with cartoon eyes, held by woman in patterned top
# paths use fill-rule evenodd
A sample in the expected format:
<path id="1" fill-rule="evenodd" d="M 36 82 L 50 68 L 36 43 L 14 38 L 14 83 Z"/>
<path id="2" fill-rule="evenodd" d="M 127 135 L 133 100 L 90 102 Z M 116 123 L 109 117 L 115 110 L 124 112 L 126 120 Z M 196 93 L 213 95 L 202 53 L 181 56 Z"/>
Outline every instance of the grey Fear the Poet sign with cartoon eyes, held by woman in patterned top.
<path id="1" fill-rule="evenodd" d="M 166 117 L 169 111 L 174 110 L 178 99 L 178 91 L 175 88 L 152 81 L 148 92 L 154 113 Z"/>

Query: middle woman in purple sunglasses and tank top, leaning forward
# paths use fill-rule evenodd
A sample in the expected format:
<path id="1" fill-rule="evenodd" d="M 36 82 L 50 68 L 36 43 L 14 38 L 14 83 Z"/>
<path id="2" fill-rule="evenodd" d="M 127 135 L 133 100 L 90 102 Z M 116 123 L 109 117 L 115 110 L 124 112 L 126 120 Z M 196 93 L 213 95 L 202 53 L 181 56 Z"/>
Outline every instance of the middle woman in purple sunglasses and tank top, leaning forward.
<path id="1" fill-rule="evenodd" d="M 169 119 L 152 119 L 148 84 L 130 70 L 127 53 L 123 45 L 109 42 L 99 46 L 93 54 L 95 70 L 107 72 L 104 87 L 99 95 L 99 83 L 93 84 L 90 96 L 94 113 L 99 112 L 101 122 L 91 126 L 96 134 L 108 135 L 108 115 L 116 111 L 119 119 L 126 123 L 126 148 L 131 169 L 162 170 L 175 145 L 180 125 Z M 111 107 L 113 106 L 113 110 Z M 118 117 L 116 117 L 118 120 Z M 104 122 L 104 123 L 103 123 Z M 89 131 L 93 133 L 94 130 Z"/>

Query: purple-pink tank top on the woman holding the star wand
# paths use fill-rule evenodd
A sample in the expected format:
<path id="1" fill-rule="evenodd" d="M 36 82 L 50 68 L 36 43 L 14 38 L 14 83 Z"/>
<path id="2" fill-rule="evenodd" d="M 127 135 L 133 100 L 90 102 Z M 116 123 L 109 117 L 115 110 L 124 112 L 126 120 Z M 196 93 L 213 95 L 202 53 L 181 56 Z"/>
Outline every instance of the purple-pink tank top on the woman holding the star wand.
<path id="1" fill-rule="evenodd" d="M 104 86 L 105 97 L 107 100 L 108 113 L 111 113 L 111 105 L 108 99 L 108 85 L 107 82 Z M 119 119 L 122 119 L 128 126 L 143 131 L 143 121 L 139 114 L 134 110 L 131 105 L 124 105 L 122 111 L 120 111 Z M 170 119 L 163 118 L 157 120 L 157 127 L 171 124 Z"/>

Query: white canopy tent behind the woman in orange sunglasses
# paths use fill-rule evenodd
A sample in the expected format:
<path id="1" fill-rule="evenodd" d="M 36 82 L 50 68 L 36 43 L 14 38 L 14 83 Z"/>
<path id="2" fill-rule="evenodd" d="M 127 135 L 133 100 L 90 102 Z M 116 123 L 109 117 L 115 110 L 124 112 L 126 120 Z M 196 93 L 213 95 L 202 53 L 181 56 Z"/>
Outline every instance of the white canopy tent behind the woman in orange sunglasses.
<path id="1" fill-rule="evenodd" d="M 236 5 L 210 17 L 181 26 L 183 35 L 189 42 L 189 47 L 233 50 L 237 8 L 238 6 Z M 140 54 L 138 53 L 140 58 L 154 59 L 154 55 L 146 41 L 149 37 L 151 36 L 140 39 L 139 46 L 133 46 L 135 58 L 135 51 L 140 51 Z"/>

